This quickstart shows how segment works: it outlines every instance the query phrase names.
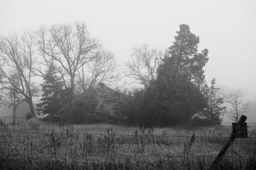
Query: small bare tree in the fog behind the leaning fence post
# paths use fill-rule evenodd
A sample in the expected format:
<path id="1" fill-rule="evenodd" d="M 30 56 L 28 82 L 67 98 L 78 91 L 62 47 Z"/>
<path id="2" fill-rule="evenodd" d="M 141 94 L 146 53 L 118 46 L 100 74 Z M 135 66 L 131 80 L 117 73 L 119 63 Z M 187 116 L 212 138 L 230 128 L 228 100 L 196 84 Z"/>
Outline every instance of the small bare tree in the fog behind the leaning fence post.
<path id="1" fill-rule="evenodd" d="M 245 92 L 242 89 L 230 90 L 224 95 L 225 102 L 228 104 L 230 119 L 238 122 L 241 115 L 246 113 L 250 107 L 249 103 L 245 101 Z"/>

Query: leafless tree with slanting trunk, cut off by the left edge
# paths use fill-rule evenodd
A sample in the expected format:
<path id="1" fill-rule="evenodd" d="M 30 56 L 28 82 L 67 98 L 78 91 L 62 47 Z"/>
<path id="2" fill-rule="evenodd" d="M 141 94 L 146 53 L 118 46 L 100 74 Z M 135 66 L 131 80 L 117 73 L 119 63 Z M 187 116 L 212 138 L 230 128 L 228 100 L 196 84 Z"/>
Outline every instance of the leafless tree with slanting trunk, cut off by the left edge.
<path id="1" fill-rule="evenodd" d="M 0 39 L 0 72 L 2 83 L 0 90 L 11 90 L 22 95 L 28 102 L 31 117 L 35 117 L 33 96 L 36 87 L 31 80 L 35 64 L 35 34 L 24 31 L 22 36 L 7 36 Z"/>

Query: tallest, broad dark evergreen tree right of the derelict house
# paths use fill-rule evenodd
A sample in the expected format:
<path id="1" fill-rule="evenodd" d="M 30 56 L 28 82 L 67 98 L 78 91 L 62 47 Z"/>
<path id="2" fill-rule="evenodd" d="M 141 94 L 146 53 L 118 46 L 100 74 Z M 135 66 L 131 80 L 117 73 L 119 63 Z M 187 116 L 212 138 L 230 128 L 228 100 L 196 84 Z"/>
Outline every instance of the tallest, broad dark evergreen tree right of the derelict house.
<path id="1" fill-rule="evenodd" d="M 201 88 L 208 50 L 198 53 L 199 37 L 190 32 L 188 25 L 180 25 L 177 34 L 163 64 L 157 69 L 153 89 L 148 90 L 152 94 L 149 98 L 157 99 L 157 104 L 147 108 L 154 106 L 158 110 L 154 114 L 163 116 L 164 120 L 171 118 L 170 123 L 190 125 L 193 116 L 206 106 Z"/>

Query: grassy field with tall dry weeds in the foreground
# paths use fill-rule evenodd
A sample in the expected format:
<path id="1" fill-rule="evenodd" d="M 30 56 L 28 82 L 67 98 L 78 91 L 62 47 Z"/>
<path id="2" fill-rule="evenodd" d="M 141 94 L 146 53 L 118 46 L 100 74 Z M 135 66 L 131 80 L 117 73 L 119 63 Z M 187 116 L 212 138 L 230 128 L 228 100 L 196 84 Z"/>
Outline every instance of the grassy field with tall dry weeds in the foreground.
<path id="1" fill-rule="evenodd" d="M 235 139 L 211 167 L 230 125 L 181 129 L 122 125 L 51 125 L 28 122 L 0 127 L 0 169 L 251 169 L 256 131 Z M 25 163 L 22 163 L 25 162 Z"/>

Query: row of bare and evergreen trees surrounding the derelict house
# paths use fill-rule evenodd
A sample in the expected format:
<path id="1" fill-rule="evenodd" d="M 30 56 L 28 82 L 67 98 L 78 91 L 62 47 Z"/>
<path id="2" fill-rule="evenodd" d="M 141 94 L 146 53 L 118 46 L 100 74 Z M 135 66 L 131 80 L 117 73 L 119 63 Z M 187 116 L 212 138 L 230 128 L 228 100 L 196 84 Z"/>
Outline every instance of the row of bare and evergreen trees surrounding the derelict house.
<path id="1" fill-rule="evenodd" d="M 205 80 L 208 50 L 198 52 L 199 40 L 182 24 L 166 52 L 136 46 L 123 73 L 142 88 L 122 93 L 111 120 L 130 125 L 220 124 L 226 107 L 216 79 Z M 113 83 L 119 76 L 113 53 L 90 36 L 83 22 L 1 36 L 0 65 L 0 98 L 10 99 L 13 117 L 22 101 L 29 104 L 27 117 L 35 117 L 33 99 L 40 96 L 37 109 L 53 122 L 102 121 L 90 113 L 89 103 L 74 101 L 98 83 Z M 246 103 L 234 96 L 242 99 L 244 93 L 236 90 L 226 96 L 230 115 L 237 120 Z"/>

